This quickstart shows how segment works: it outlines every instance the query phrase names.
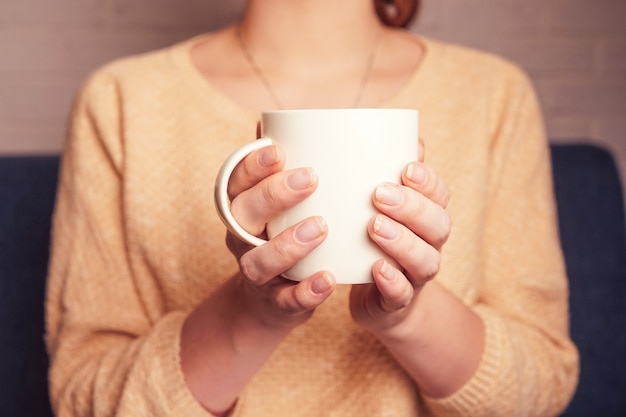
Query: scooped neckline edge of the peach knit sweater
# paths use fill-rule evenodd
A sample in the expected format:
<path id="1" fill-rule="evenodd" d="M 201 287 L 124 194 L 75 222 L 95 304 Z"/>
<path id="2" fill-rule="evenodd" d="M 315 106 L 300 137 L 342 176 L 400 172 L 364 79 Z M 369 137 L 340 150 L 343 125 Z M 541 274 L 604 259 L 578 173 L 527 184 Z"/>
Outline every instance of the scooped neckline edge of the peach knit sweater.
<path id="1" fill-rule="evenodd" d="M 408 77 L 402 88 L 396 91 L 391 97 L 384 100 L 378 107 L 402 107 L 401 103 L 405 101 L 403 100 L 403 98 L 407 94 L 414 95 L 416 91 L 420 91 L 423 93 L 424 88 L 427 86 L 427 83 L 422 82 L 422 80 L 428 79 L 427 74 L 429 72 L 432 72 L 431 68 L 433 67 L 433 61 L 436 61 L 437 42 L 410 31 L 406 31 L 406 33 L 408 34 L 408 36 L 413 37 L 416 42 L 422 45 L 423 55 L 421 62 L 414 69 L 413 73 Z M 174 62 L 176 63 L 179 71 L 181 71 L 183 75 L 182 78 L 184 82 L 191 90 L 194 91 L 194 94 L 199 96 L 201 100 L 211 101 L 213 105 L 216 105 L 217 103 L 219 108 L 225 111 L 234 112 L 246 118 L 258 120 L 260 118 L 261 112 L 240 105 L 225 92 L 215 87 L 211 83 L 211 81 L 202 74 L 200 69 L 194 64 L 193 60 L 191 59 L 191 49 L 193 48 L 193 46 L 197 42 L 200 42 L 211 35 L 212 33 L 204 33 L 194 36 L 190 39 L 174 45 L 170 49 L 170 52 L 174 58 Z M 413 96 L 412 101 L 414 102 L 414 100 L 415 97 Z"/>

